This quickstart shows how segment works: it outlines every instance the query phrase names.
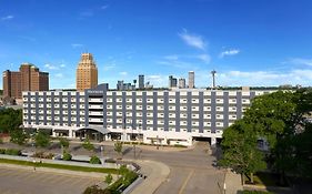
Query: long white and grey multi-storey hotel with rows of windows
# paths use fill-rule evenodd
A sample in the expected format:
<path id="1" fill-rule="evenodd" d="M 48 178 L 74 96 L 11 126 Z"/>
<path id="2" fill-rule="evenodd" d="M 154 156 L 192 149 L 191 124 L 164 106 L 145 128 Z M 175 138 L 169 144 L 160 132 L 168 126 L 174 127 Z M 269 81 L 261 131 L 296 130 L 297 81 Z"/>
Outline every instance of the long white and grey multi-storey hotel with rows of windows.
<path id="1" fill-rule="evenodd" d="M 23 92 L 23 125 L 71 139 L 89 134 L 163 145 L 204 139 L 214 144 L 263 93 L 269 91 L 111 91 L 102 85 L 84 92 Z"/>

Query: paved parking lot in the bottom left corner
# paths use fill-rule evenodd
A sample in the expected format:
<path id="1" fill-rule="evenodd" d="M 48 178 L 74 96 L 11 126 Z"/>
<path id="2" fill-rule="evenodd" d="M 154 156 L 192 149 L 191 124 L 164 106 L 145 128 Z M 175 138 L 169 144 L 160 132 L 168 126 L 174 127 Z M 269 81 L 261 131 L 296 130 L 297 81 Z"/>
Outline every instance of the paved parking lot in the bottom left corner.
<path id="1" fill-rule="evenodd" d="M 1 194 L 79 194 L 99 178 L 0 166 Z"/>

